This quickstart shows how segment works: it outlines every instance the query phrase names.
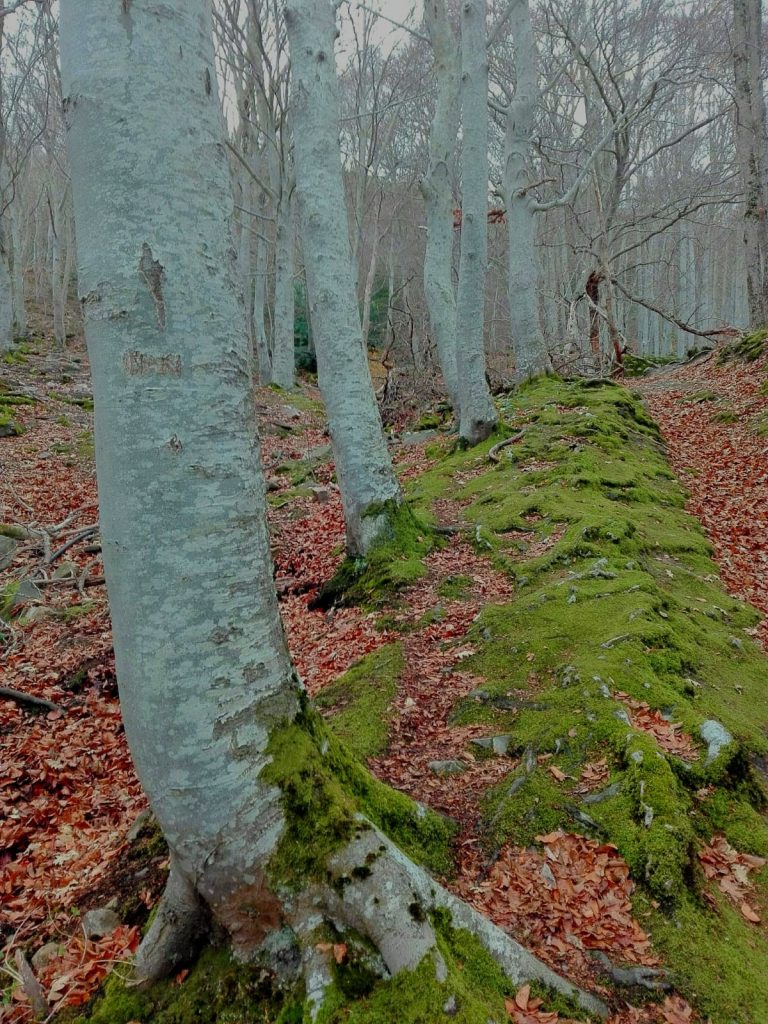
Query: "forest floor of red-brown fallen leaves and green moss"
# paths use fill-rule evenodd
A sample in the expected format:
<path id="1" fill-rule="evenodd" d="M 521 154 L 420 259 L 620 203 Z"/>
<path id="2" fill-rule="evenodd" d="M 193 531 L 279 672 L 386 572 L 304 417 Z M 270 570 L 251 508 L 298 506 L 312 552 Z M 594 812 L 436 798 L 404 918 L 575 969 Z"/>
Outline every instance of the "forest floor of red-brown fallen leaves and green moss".
<path id="1" fill-rule="evenodd" d="M 734 599 L 768 613 L 766 379 L 765 358 L 710 357 L 630 382 L 733 597 L 628 392 L 545 382 L 502 401 L 524 436 L 498 463 L 441 431 L 393 440 L 417 513 L 459 530 L 396 566 L 397 593 L 330 611 L 307 606 L 343 557 L 318 393 L 257 395 L 275 582 L 310 694 L 376 775 L 456 822 L 446 884 L 606 998 L 611 1024 L 768 1020 L 768 662 L 753 643 L 768 650 L 768 631 Z M 167 870 L 120 722 L 90 393 L 77 344 L 37 336 L 0 365 L 0 685 L 55 705 L 0 700 L 8 1022 L 33 1019 L 28 961 L 51 1012 L 85 1006 Z M 713 721 L 731 756 L 707 757 Z M 87 911 L 105 906 L 120 925 L 99 936 Z M 669 970 L 667 990 L 643 988 L 645 968 Z M 527 987 L 506 1012 L 570 1019 Z"/>

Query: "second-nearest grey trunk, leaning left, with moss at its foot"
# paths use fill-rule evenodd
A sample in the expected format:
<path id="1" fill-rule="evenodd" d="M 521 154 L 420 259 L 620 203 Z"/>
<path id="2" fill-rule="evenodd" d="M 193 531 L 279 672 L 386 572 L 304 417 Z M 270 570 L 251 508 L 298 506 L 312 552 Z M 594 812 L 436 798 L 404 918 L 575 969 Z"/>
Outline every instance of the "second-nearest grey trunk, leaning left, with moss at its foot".
<path id="1" fill-rule="evenodd" d="M 362 347 L 338 138 L 336 5 L 289 0 L 296 184 L 317 380 L 328 412 L 347 549 L 365 554 L 388 528 L 372 506 L 401 501 Z"/>

